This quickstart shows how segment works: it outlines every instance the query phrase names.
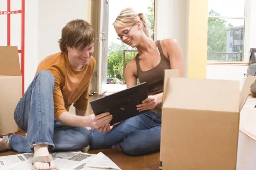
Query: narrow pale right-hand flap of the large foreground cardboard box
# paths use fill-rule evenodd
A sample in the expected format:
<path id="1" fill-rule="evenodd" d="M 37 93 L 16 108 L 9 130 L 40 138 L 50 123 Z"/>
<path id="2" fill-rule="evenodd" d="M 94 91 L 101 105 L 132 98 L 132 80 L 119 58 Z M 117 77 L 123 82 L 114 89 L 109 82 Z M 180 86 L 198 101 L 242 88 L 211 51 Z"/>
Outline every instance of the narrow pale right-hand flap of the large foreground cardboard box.
<path id="1" fill-rule="evenodd" d="M 254 83 L 256 80 L 255 76 L 248 76 L 247 79 L 245 80 L 244 86 L 240 92 L 240 99 L 239 99 L 239 110 L 241 111 L 247 98 L 248 95 L 250 94 L 250 89 L 251 89 L 251 84 Z"/>

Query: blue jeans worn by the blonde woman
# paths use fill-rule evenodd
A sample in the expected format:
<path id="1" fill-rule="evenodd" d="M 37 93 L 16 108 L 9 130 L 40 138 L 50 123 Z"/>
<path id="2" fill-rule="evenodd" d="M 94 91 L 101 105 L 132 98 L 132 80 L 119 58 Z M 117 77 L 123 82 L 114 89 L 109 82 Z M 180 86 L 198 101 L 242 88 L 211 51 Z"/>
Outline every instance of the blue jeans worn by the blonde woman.
<path id="1" fill-rule="evenodd" d="M 152 111 L 132 117 L 111 131 L 91 131 L 91 149 L 112 148 L 120 144 L 127 155 L 145 155 L 160 150 L 162 116 Z"/>

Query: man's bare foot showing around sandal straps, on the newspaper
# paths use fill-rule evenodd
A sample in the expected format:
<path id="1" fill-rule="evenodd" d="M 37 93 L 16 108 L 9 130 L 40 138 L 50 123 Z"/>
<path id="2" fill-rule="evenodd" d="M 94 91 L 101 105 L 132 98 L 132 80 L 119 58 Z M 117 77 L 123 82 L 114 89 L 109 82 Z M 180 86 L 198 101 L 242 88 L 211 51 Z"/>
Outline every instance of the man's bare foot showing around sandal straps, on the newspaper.
<path id="1" fill-rule="evenodd" d="M 47 145 L 35 145 L 34 151 L 34 158 L 50 155 Z M 45 162 L 35 162 L 33 165 L 35 169 L 56 169 L 56 166 L 54 165 L 53 161 L 51 161 L 50 164 Z"/>

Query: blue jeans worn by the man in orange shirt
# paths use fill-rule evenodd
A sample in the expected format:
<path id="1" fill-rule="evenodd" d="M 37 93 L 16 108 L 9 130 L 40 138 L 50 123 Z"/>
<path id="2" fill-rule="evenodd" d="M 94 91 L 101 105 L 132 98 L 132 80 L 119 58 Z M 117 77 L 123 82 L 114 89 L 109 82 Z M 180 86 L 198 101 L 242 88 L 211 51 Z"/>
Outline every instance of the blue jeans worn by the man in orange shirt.
<path id="1" fill-rule="evenodd" d="M 54 88 L 51 72 L 40 71 L 35 76 L 14 112 L 17 125 L 27 136 L 10 136 L 11 149 L 30 153 L 37 144 L 48 145 L 49 151 L 78 150 L 89 145 L 91 135 L 86 128 L 65 126 L 54 119 Z"/>

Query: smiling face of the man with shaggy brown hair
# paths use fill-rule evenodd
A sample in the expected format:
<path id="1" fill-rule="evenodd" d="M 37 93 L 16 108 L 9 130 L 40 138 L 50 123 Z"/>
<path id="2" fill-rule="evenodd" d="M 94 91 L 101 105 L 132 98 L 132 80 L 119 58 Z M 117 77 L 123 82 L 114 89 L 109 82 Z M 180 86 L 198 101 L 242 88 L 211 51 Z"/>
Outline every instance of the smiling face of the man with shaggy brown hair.
<path id="1" fill-rule="evenodd" d="M 86 48 L 84 48 L 84 50 L 78 50 L 67 46 L 67 51 L 71 65 L 75 68 L 80 65 L 84 66 L 89 63 L 90 57 L 94 52 L 94 42 L 91 42 Z"/>

